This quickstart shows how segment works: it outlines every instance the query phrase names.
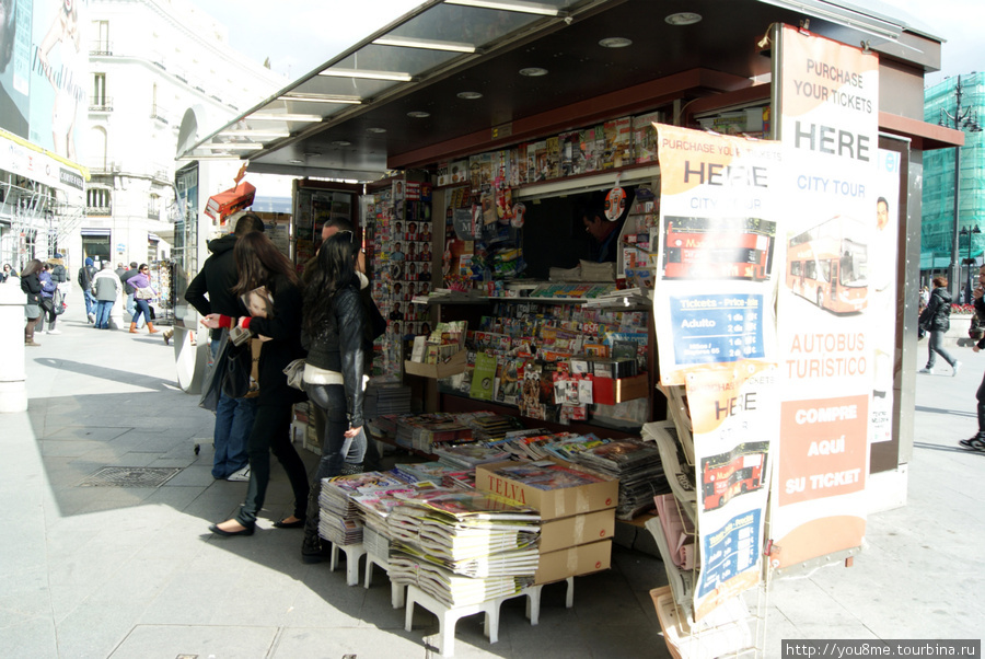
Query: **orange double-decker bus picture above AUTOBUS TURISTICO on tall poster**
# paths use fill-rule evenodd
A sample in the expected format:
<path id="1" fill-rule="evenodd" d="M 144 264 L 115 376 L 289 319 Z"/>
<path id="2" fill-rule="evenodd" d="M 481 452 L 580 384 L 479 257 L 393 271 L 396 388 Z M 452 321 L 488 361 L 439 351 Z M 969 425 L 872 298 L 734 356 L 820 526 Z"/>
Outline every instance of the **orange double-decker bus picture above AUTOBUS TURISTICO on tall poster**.
<path id="1" fill-rule="evenodd" d="M 790 238 L 787 288 L 833 313 L 859 312 L 869 293 L 865 226 L 835 216 Z"/>

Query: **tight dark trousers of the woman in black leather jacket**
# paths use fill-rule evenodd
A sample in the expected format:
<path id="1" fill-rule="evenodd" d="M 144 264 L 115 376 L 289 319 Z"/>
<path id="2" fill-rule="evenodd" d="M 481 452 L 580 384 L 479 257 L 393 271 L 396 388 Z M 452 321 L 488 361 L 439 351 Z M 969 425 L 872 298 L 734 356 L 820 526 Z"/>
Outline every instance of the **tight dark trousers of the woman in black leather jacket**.
<path id="1" fill-rule="evenodd" d="M 341 474 L 343 464 L 360 464 L 366 456 L 366 429 L 356 437 L 346 437 L 349 419 L 346 416 L 346 388 L 341 384 L 304 383 L 308 398 L 317 412 L 325 416 L 318 427 L 318 440 L 322 444 L 322 458 L 311 482 L 308 498 L 308 519 L 304 522 L 305 536 L 317 536 L 318 533 L 318 495 L 322 493 L 322 478 Z"/>

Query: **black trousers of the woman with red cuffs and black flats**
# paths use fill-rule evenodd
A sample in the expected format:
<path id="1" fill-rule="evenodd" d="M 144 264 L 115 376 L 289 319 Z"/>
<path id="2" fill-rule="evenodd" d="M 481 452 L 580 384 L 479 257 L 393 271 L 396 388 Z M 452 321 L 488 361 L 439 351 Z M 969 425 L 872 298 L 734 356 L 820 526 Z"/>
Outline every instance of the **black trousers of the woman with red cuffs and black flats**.
<path id="1" fill-rule="evenodd" d="M 264 507 L 270 481 L 270 452 L 283 466 L 294 493 L 294 517 L 304 519 L 308 508 L 308 471 L 291 443 L 291 404 L 257 405 L 256 420 L 246 442 L 250 454 L 250 484 L 246 500 L 240 507 L 236 521 L 251 528 Z"/>

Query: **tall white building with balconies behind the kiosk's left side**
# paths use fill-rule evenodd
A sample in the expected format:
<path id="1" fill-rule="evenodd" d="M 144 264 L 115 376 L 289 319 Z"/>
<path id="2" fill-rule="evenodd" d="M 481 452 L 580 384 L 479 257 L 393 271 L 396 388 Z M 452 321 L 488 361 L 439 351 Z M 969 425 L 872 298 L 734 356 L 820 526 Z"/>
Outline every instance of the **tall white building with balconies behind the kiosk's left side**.
<path id="1" fill-rule="evenodd" d="M 90 0 L 89 18 L 81 160 L 92 178 L 84 215 L 61 231 L 72 271 L 86 256 L 114 264 L 169 258 L 186 109 L 195 108 L 208 132 L 287 83 L 232 50 L 225 26 L 187 0 Z M 239 164 L 230 165 L 233 173 Z"/>

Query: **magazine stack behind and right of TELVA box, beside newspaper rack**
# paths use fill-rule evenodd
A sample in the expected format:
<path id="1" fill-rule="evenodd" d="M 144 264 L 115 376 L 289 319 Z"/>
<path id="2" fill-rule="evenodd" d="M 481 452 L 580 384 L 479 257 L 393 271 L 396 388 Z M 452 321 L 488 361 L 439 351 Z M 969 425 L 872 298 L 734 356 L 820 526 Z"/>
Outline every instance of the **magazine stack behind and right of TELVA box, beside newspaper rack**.
<path id="1" fill-rule="evenodd" d="M 619 479 L 616 519 L 631 520 L 653 507 L 653 496 L 670 492 L 660 451 L 639 439 L 614 439 L 572 456 L 581 465 Z"/>

